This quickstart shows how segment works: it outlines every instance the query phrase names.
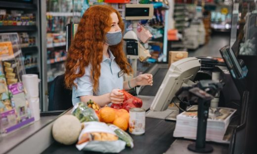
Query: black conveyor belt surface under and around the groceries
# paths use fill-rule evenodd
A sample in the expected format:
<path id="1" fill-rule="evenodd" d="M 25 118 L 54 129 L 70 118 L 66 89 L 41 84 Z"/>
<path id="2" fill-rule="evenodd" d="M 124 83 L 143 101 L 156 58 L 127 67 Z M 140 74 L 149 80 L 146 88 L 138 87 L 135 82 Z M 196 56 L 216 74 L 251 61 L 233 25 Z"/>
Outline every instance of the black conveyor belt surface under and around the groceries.
<path id="1" fill-rule="evenodd" d="M 120 154 L 164 154 L 174 142 L 175 122 L 156 118 L 145 119 L 145 134 L 131 135 L 134 148 L 126 148 Z M 79 151 L 75 145 L 65 146 L 54 142 L 42 154 L 102 154 L 90 151 Z"/>

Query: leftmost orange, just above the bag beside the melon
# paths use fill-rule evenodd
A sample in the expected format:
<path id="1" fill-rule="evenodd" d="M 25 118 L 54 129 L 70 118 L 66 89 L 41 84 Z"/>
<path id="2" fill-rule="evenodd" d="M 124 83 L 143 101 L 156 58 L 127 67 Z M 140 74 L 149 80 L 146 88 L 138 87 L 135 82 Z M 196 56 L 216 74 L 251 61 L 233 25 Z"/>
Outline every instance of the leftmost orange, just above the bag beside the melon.
<path id="1" fill-rule="evenodd" d="M 110 107 L 104 107 L 100 110 L 100 119 L 105 123 L 112 123 L 115 120 L 116 112 Z"/>

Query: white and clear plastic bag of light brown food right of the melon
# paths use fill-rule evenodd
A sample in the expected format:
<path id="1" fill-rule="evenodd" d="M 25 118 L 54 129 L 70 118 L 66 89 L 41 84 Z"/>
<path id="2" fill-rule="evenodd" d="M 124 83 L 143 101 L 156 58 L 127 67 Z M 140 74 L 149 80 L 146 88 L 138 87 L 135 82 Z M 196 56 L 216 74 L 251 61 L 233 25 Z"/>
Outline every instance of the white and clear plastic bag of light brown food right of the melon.
<path id="1" fill-rule="evenodd" d="M 84 129 L 79 136 L 78 150 L 120 153 L 126 142 L 118 140 L 116 133 L 103 122 L 84 122 Z"/>

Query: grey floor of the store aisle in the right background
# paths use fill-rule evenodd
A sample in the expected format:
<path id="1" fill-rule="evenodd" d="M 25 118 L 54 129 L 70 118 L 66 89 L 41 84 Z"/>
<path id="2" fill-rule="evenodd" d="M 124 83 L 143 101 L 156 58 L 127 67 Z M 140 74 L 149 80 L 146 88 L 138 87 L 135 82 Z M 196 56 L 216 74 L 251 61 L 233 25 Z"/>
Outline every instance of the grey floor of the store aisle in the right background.
<path id="1" fill-rule="evenodd" d="M 210 41 L 199 47 L 197 50 L 188 51 L 188 56 L 211 56 L 221 57 L 219 49 L 225 45 L 229 45 L 230 33 L 214 32 Z"/>

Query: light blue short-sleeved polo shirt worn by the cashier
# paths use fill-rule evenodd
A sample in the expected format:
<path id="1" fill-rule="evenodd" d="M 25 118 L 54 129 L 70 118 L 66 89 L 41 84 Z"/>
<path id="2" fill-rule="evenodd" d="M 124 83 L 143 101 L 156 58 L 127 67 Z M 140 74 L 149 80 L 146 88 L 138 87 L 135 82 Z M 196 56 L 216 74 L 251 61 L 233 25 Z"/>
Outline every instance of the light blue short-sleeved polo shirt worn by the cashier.
<path id="1" fill-rule="evenodd" d="M 91 66 L 88 65 L 85 68 L 85 74 L 83 77 L 78 77 L 74 82 L 78 85 L 72 87 L 72 103 L 75 105 L 80 102 L 80 96 L 88 95 L 103 95 L 111 92 L 113 89 L 123 89 L 123 77 L 118 77 L 118 73 L 121 71 L 119 65 L 115 61 L 115 57 L 112 52 L 108 50 L 110 58 L 103 56 L 101 62 L 100 77 L 98 79 L 98 90 L 97 93 L 93 93 L 93 82 L 90 79 Z"/>

